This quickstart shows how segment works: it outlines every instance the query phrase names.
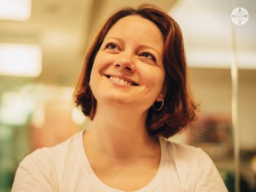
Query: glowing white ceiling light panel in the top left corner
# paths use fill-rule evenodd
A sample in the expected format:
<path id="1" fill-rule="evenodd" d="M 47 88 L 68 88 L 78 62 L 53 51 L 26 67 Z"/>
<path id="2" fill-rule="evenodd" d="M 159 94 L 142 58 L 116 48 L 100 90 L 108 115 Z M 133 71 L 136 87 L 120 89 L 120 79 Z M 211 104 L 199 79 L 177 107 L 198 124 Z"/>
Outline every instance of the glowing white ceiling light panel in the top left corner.
<path id="1" fill-rule="evenodd" d="M 31 17 L 31 0 L 0 0 L 0 19 L 28 20 Z"/>

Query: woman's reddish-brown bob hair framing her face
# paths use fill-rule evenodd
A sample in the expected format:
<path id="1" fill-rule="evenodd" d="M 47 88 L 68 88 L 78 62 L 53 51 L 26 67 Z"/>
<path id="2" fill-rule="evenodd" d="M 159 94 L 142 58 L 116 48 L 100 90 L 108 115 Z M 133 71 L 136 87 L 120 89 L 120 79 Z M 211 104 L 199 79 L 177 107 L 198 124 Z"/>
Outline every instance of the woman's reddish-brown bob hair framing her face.
<path id="1" fill-rule="evenodd" d="M 109 17 L 86 55 L 74 92 L 74 101 L 81 107 L 84 115 L 90 116 L 93 120 L 97 104 L 89 86 L 93 61 L 109 29 L 118 20 L 129 15 L 140 15 L 154 22 L 164 37 L 163 64 L 166 73 L 164 85 L 167 92 L 163 109 L 160 111 L 148 109 L 147 130 L 150 134 L 168 138 L 184 130 L 195 119 L 196 104 L 189 92 L 182 31 L 172 17 L 156 6 L 143 4 L 137 9 L 124 8 Z"/>

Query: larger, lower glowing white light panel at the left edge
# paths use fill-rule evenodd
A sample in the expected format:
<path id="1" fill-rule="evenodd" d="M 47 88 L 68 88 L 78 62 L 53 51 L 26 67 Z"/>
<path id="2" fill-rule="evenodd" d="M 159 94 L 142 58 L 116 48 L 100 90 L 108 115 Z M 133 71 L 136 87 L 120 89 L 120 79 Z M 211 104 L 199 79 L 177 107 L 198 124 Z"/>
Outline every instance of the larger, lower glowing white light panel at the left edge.
<path id="1" fill-rule="evenodd" d="M 38 77 L 42 50 L 35 44 L 0 44 L 0 75 Z"/>

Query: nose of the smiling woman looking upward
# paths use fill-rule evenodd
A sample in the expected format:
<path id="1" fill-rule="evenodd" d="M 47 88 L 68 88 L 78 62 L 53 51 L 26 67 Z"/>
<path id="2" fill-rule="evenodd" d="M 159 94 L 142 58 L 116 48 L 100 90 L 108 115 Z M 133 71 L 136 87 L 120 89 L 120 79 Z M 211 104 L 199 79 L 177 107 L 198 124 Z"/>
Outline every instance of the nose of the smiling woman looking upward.
<path id="1" fill-rule="evenodd" d="M 124 72 L 134 73 L 136 68 L 132 61 L 132 56 L 122 56 L 115 61 L 115 68 Z"/>

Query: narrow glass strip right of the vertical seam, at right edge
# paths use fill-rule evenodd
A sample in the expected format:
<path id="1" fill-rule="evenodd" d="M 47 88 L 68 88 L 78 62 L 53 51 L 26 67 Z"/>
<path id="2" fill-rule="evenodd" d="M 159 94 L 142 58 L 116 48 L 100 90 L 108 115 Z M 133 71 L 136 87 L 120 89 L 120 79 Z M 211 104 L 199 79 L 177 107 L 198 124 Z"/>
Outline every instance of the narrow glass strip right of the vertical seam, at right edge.
<path id="1" fill-rule="evenodd" d="M 243 25 L 234 24 L 238 80 L 238 128 L 240 147 L 240 191 L 256 191 L 256 2 L 237 0 L 235 8 L 244 8 L 248 18 Z M 238 10 L 242 13 L 242 10 Z"/>

